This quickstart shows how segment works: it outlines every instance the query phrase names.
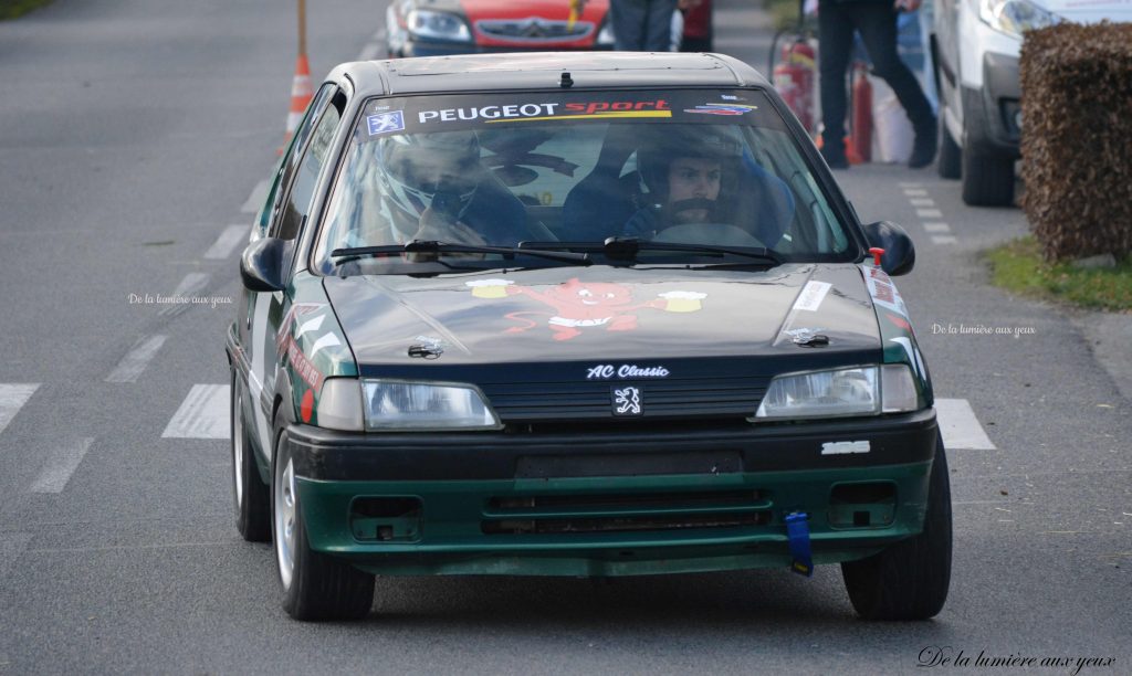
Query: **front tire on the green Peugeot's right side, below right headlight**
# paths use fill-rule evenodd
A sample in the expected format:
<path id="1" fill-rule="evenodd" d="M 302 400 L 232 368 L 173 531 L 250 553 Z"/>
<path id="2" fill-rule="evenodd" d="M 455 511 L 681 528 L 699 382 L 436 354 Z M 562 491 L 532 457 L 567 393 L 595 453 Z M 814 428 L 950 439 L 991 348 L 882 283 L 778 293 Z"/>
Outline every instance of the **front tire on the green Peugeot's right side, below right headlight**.
<path id="1" fill-rule="evenodd" d="M 951 482 L 936 440 L 924 530 L 868 558 L 841 564 L 854 609 L 865 619 L 928 619 L 951 586 Z"/>

